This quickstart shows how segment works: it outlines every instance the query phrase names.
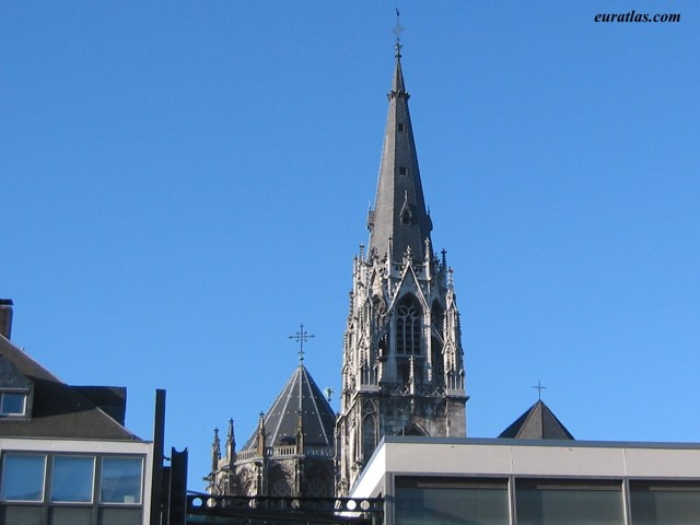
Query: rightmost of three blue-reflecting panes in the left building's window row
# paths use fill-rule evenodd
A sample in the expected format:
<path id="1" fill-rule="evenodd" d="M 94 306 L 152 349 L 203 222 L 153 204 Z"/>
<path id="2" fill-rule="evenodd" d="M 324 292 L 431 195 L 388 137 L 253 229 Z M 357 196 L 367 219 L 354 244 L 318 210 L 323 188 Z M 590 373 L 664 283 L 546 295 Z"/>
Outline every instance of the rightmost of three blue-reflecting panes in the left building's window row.
<path id="1" fill-rule="evenodd" d="M 141 503 L 140 457 L 105 457 L 102 459 L 100 501 L 102 503 Z"/>

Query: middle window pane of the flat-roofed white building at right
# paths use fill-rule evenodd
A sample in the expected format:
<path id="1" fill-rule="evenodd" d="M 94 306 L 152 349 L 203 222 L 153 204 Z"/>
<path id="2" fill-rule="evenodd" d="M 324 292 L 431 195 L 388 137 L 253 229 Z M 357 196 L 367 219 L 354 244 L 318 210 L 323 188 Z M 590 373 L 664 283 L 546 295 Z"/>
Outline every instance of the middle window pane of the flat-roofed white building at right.
<path id="1" fill-rule="evenodd" d="M 518 525 L 622 525 L 620 481 L 516 480 Z"/>

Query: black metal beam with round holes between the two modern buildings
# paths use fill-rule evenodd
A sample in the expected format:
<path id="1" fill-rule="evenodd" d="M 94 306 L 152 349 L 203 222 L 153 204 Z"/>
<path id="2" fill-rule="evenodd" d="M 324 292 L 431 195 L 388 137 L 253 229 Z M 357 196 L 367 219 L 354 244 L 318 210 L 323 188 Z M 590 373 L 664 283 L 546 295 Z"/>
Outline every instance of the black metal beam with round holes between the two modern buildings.
<path id="1" fill-rule="evenodd" d="M 268 498 L 187 494 L 187 523 L 219 525 L 380 525 L 382 498 Z"/>

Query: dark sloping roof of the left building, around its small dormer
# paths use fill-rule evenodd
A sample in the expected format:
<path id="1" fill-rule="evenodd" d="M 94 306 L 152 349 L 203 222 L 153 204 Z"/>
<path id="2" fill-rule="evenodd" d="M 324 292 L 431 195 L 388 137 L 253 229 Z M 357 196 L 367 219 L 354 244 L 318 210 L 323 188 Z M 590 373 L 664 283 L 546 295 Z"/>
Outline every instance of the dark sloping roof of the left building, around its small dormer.
<path id="1" fill-rule="evenodd" d="M 34 386 L 31 417 L 0 419 L 0 436 L 141 441 L 81 394 L 85 387 L 65 384 L 2 335 L 0 357 L 0 387 Z M 91 387 L 85 392 L 96 399 L 100 390 L 124 389 Z M 126 402 L 126 392 L 124 397 Z"/>

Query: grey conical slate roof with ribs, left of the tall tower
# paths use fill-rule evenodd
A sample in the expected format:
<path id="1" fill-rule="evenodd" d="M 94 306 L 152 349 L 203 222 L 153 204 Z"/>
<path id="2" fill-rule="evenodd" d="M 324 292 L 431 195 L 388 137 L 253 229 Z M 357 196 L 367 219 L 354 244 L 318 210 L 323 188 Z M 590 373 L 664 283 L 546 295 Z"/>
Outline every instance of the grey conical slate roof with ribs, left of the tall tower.
<path id="1" fill-rule="evenodd" d="M 295 442 L 299 412 L 302 412 L 304 446 L 334 446 L 336 416 L 313 377 L 300 364 L 265 415 L 265 445 Z M 254 450 L 257 430 L 242 451 Z"/>

